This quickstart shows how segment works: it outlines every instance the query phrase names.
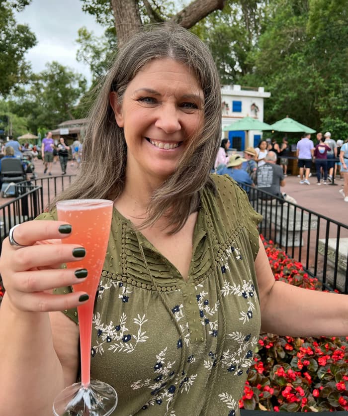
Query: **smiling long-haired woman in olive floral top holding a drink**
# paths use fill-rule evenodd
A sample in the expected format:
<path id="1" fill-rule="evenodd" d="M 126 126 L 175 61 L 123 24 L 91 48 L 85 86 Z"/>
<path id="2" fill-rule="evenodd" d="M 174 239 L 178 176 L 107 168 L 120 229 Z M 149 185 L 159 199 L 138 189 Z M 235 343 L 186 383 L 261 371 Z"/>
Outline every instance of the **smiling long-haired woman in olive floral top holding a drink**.
<path id="1" fill-rule="evenodd" d="M 76 381 L 71 309 L 82 302 L 95 301 L 91 376 L 115 387 L 115 415 L 238 415 L 261 324 L 287 335 L 347 334 L 347 297 L 275 282 L 261 216 L 232 179 L 210 175 L 220 82 L 193 34 L 164 25 L 132 36 L 86 132 L 79 177 L 60 198 L 114 201 L 98 299 L 70 293 L 83 278 L 58 266 L 82 247 L 35 244 L 71 232 L 54 210 L 13 229 L 0 259 L 3 414 L 49 415 Z"/>

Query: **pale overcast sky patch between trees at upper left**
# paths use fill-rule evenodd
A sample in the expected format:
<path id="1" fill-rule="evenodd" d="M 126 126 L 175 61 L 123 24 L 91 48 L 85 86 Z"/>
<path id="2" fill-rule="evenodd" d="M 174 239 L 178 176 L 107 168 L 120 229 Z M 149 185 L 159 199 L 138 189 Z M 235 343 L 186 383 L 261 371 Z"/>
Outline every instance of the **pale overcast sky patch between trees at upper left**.
<path id="1" fill-rule="evenodd" d="M 23 11 L 15 13 L 15 19 L 28 24 L 37 38 L 37 45 L 26 54 L 33 72 L 44 70 L 47 62 L 58 61 L 90 82 L 89 67 L 76 60 L 78 29 L 86 26 L 100 36 L 104 28 L 82 11 L 80 0 L 32 0 Z"/>

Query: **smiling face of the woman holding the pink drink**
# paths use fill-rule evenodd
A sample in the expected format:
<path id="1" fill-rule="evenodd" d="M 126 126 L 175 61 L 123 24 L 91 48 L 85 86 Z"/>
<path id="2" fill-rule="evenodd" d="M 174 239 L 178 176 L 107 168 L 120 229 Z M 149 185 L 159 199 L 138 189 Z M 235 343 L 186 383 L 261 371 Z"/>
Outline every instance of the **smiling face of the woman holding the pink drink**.
<path id="1" fill-rule="evenodd" d="M 195 76 L 173 59 L 150 62 L 110 104 L 127 143 L 127 178 L 163 181 L 204 124 L 204 95 Z"/>

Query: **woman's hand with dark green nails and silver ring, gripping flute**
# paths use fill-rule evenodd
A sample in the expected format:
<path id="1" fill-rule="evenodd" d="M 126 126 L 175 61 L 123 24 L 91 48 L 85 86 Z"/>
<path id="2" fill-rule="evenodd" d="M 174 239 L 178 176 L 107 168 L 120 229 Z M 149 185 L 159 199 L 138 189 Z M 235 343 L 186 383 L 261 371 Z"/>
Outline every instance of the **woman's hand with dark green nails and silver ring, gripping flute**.
<path id="1" fill-rule="evenodd" d="M 86 269 L 61 268 L 62 263 L 77 261 L 86 254 L 82 246 L 62 243 L 61 239 L 70 232 L 71 226 L 65 222 L 35 220 L 13 230 L 13 239 L 24 247 L 11 245 L 8 237 L 4 239 L 0 274 L 5 295 L 14 308 L 28 312 L 63 311 L 88 300 L 86 292 L 52 294 L 54 288 L 76 285 L 87 277 Z"/>

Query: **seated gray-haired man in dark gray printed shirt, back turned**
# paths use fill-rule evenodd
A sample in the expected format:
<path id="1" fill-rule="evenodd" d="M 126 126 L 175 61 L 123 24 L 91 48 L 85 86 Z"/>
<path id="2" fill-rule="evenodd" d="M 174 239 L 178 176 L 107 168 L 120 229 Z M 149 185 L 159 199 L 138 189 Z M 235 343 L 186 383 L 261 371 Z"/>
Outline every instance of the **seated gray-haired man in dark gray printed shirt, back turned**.
<path id="1" fill-rule="evenodd" d="M 280 187 L 285 185 L 285 179 L 282 168 L 276 165 L 277 155 L 269 151 L 264 160 L 266 163 L 259 166 L 257 170 L 257 186 L 262 191 L 282 198 Z M 269 199 L 271 199 L 270 196 Z"/>

